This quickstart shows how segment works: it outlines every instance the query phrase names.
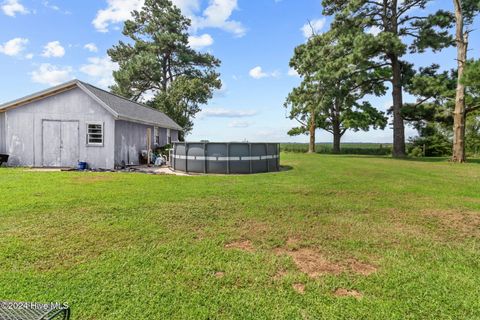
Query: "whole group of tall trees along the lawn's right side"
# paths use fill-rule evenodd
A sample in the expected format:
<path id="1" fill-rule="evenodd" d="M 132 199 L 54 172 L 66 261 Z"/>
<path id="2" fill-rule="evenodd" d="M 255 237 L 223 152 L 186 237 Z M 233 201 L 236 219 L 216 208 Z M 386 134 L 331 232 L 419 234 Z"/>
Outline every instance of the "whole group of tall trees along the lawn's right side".
<path id="1" fill-rule="evenodd" d="M 332 17 L 329 31 L 313 34 L 290 61 L 302 82 L 285 102 L 299 124 L 289 134 L 309 134 L 309 152 L 315 152 L 315 130 L 324 129 L 340 152 L 347 130 L 386 127 L 387 115 L 367 98 L 390 91 L 394 157 L 451 154 L 464 162 L 466 151 L 480 143 L 480 61 L 467 57 L 480 0 L 451 1 L 452 12 L 428 13 L 433 0 L 323 0 L 323 14 Z M 436 64 L 416 69 L 405 60 L 407 53 L 449 46 L 457 49 L 454 70 Z M 404 103 L 404 92 L 417 101 Z M 410 150 L 406 123 L 418 131 Z"/>

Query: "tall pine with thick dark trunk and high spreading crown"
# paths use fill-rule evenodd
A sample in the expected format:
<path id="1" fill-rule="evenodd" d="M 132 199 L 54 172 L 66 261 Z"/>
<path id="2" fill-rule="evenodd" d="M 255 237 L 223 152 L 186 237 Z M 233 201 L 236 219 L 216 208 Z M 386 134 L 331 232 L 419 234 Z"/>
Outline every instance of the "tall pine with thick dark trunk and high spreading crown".
<path id="1" fill-rule="evenodd" d="M 412 73 L 411 65 L 401 60 L 410 52 L 427 48 L 440 50 L 452 44 L 447 27 L 452 16 L 445 11 L 425 14 L 431 0 L 323 0 L 324 14 L 335 15 L 333 28 L 348 31 L 361 28 L 372 32 L 358 33 L 354 40 L 354 56 L 369 58 L 374 69 L 388 68 L 373 81 L 392 85 L 393 156 L 405 156 L 405 128 L 401 108 L 403 86 Z M 415 14 L 412 11 L 417 10 Z M 378 32 L 374 35 L 373 32 Z M 353 63 L 356 63 L 353 61 Z"/>

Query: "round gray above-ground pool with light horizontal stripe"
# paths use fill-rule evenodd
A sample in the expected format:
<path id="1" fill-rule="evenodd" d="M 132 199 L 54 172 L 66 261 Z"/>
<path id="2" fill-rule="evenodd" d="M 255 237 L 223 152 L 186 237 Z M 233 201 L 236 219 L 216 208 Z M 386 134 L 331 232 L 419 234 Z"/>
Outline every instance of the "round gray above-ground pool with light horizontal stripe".
<path id="1" fill-rule="evenodd" d="M 280 144 L 247 142 L 177 142 L 174 170 L 197 173 L 259 173 L 280 169 Z"/>

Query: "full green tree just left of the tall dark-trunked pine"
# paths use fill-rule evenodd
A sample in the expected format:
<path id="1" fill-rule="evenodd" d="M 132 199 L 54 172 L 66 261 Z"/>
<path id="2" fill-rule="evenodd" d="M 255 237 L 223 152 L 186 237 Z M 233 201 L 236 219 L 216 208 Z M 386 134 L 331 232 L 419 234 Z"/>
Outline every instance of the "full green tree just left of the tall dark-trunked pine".
<path id="1" fill-rule="evenodd" d="M 332 30 L 315 35 L 306 44 L 295 49 L 290 66 L 303 76 L 299 87 L 287 98 L 290 118 L 297 119 L 300 127 L 289 134 L 310 133 L 312 152 L 315 128 L 333 134 L 333 152 L 340 152 L 340 140 L 347 130 L 368 131 L 370 127 L 385 128 L 387 119 L 367 101 L 367 94 L 383 94 L 382 83 L 371 81 L 378 74 L 371 72 L 368 61 L 353 65 L 351 61 L 352 29 L 339 34 Z"/>

